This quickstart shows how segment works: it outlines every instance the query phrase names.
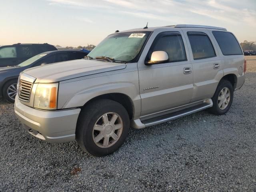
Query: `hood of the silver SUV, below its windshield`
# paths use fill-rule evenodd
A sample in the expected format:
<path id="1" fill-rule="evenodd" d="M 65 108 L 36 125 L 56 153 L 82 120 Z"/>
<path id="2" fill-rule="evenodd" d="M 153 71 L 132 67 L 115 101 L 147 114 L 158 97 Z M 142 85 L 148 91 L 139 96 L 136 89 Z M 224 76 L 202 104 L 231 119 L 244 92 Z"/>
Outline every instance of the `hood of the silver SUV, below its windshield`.
<path id="1" fill-rule="evenodd" d="M 78 59 L 30 68 L 24 73 L 36 78 L 36 83 L 50 83 L 124 68 L 123 63 Z"/>

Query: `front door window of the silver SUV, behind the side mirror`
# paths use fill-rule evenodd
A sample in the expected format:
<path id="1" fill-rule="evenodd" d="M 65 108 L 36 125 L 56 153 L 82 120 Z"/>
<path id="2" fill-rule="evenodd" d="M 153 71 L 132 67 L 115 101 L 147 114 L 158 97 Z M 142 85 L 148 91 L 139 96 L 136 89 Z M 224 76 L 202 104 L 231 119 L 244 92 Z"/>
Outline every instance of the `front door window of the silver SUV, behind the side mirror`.
<path id="1" fill-rule="evenodd" d="M 169 56 L 169 62 L 186 60 L 186 52 L 181 35 L 164 35 L 156 40 L 152 52 L 165 51 Z"/>

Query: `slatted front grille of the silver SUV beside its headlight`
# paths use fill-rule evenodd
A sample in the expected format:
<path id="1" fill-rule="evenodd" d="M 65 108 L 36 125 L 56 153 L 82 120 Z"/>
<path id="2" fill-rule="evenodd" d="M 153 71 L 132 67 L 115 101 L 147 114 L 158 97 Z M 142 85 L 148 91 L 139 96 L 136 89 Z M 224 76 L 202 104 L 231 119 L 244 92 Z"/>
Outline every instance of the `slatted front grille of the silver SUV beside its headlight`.
<path id="1" fill-rule="evenodd" d="M 22 79 L 19 80 L 18 96 L 20 100 L 29 102 L 32 85 L 33 83 L 31 82 L 24 81 Z"/>

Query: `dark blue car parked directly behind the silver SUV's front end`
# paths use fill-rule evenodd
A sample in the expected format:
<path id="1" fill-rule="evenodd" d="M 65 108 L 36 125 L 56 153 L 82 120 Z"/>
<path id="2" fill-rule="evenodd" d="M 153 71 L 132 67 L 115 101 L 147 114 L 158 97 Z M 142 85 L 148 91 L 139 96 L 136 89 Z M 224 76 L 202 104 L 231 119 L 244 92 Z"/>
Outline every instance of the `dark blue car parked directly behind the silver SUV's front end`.
<path id="1" fill-rule="evenodd" d="M 18 77 L 20 72 L 25 69 L 44 64 L 81 59 L 86 55 L 86 52 L 74 50 L 48 51 L 40 53 L 16 66 L 2 67 L 0 68 L 0 97 L 4 97 L 9 102 L 14 102 Z"/>

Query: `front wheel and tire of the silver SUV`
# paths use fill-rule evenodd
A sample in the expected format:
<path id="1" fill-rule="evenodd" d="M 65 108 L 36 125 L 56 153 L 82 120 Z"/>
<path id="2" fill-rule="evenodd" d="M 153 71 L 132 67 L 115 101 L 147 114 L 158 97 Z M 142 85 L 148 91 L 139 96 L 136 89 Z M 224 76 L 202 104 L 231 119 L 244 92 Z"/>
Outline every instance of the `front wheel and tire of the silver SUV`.
<path id="1" fill-rule="evenodd" d="M 110 122 L 111 120 L 114 123 Z M 88 154 L 106 156 L 118 150 L 128 136 L 129 130 L 130 119 L 124 106 L 109 99 L 96 100 L 79 114 L 76 141 Z M 100 138 L 102 139 L 99 140 Z"/>

